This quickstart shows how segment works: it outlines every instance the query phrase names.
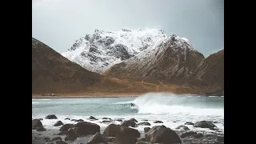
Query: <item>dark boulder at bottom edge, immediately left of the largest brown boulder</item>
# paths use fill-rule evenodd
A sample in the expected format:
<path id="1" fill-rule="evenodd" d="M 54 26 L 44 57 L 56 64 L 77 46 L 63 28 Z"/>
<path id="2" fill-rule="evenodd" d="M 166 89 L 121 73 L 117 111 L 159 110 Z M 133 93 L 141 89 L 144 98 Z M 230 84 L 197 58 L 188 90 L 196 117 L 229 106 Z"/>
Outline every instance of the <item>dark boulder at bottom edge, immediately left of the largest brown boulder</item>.
<path id="1" fill-rule="evenodd" d="M 114 138 L 114 143 L 118 144 L 135 144 L 140 136 L 138 130 L 132 129 L 130 127 L 122 127 L 118 134 Z"/>

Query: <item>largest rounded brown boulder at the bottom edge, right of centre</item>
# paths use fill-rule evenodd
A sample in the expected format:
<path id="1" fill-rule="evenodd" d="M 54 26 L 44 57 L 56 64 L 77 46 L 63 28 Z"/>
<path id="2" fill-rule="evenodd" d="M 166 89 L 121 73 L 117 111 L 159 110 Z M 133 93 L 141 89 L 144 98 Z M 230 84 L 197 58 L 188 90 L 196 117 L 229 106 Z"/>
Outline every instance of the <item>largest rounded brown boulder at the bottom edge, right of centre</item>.
<path id="1" fill-rule="evenodd" d="M 146 134 L 146 139 L 153 143 L 181 144 L 182 140 L 174 130 L 166 126 L 153 126 Z"/>

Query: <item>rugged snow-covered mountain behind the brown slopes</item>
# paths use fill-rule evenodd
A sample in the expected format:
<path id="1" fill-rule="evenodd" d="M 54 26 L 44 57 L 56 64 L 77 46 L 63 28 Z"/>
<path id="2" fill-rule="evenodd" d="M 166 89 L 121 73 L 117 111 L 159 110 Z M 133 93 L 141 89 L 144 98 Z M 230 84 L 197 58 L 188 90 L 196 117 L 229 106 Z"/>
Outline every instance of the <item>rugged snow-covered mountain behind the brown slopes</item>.
<path id="1" fill-rule="evenodd" d="M 62 55 L 86 70 L 102 74 L 111 66 L 154 46 L 162 38 L 167 38 L 167 35 L 159 29 L 122 29 L 115 32 L 95 30 L 94 34 L 79 38 Z"/>

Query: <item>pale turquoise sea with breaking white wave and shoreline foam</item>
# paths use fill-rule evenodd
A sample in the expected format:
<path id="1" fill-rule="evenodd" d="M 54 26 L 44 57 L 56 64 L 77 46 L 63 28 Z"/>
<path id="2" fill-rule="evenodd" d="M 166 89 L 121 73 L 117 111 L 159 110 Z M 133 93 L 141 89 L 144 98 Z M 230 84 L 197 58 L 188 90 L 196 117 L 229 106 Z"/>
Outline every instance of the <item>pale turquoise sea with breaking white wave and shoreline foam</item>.
<path id="1" fill-rule="evenodd" d="M 131 106 L 131 103 L 134 103 L 134 106 Z M 48 114 L 55 114 L 64 124 L 74 123 L 65 118 L 94 122 L 101 126 L 101 130 L 110 124 L 102 123 L 104 117 L 135 118 L 138 122 L 148 120 L 151 126 L 165 125 L 173 130 L 177 126 L 184 125 L 185 122 L 207 120 L 214 122 L 220 129 L 218 133 L 224 134 L 224 97 L 150 93 L 140 97 L 123 98 L 32 99 L 32 118 L 45 118 Z M 88 119 L 90 116 L 98 120 L 90 121 Z M 43 119 L 42 124 L 46 128 L 59 129 L 60 126 L 53 126 L 58 120 Z M 163 123 L 153 123 L 157 120 Z M 138 126 L 136 129 L 143 131 L 144 127 Z M 213 132 L 190 125 L 188 127 L 190 130 Z"/>

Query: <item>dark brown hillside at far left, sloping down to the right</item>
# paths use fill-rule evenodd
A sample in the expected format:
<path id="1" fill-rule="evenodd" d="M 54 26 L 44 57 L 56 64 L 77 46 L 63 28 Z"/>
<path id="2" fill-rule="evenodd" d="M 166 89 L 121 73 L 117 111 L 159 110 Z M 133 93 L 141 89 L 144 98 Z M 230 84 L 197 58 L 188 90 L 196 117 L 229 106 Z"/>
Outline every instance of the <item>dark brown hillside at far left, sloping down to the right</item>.
<path id="1" fill-rule="evenodd" d="M 32 43 L 32 93 L 78 92 L 101 82 L 92 73 L 62 57 L 49 46 Z"/>

